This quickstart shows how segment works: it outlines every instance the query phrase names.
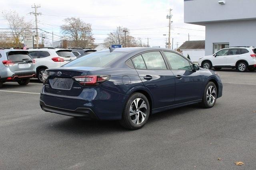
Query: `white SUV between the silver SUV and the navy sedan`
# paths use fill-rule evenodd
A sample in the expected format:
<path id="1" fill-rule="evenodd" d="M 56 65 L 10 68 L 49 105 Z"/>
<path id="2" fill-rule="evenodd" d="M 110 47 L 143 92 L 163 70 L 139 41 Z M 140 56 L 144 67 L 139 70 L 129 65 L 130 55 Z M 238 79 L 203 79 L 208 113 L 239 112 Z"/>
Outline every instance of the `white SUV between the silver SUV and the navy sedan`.
<path id="1" fill-rule="evenodd" d="M 47 47 L 28 49 L 28 53 L 36 61 L 36 77 L 40 82 L 42 82 L 44 70 L 47 68 L 57 68 L 76 59 L 76 56 L 70 49 Z"/>

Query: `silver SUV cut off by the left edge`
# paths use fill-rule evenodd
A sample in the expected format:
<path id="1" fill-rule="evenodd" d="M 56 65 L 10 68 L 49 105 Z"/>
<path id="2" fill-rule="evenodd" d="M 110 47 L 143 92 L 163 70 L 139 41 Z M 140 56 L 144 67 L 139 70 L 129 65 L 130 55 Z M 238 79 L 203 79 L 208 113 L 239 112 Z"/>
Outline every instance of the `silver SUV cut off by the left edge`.
<path id="1" fill-rule="evenodd" d="M 27 85 L 35 75 L 35 60 L 28 51 L 0 49 L 0 88 L 4 82 L 10 81 Z"/>

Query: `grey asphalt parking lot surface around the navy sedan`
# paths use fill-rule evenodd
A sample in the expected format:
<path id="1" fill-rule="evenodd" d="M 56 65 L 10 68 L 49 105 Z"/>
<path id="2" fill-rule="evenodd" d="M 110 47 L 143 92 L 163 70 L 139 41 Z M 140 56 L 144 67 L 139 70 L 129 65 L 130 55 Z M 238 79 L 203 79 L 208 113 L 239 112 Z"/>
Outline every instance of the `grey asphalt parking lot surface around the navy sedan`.
<path id="1" fill-rule="evenodd" d="M 256 71 L 218 72 L 224 89 L 213 108 L 157 113 L 136 131 L 46 113 L 42 84 L 5 83 L 0 169 L 256 169 Z"/>

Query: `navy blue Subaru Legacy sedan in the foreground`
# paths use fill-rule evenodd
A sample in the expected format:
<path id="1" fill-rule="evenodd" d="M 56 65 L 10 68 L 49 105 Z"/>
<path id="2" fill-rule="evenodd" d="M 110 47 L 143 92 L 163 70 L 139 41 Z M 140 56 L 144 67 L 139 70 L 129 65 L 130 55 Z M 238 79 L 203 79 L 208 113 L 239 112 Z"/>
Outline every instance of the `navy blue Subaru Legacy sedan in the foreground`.
<path id="1" fill-rule="evenodd" d="M 98 120 L 119 120 L 139 129 L 151 114 L 222 96 L 217 72 L 200 68 L 164 48 L 98 51 L 60 68 L 47 69 L 40 106 L 44 111 Z"/>

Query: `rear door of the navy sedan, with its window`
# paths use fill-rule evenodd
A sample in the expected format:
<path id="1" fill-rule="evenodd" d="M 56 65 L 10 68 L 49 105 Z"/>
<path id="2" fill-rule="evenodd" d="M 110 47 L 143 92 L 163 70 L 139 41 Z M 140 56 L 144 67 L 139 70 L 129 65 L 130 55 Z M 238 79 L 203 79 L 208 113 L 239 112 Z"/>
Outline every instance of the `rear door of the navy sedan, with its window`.
<path id="1" fill-rule="evenodd" d="M 174 75 L 166 66 L 160 51 L 142 53 L 132 58 L 132 62 L 144 86 L 151 92 L 154 108 L 174 104 Z"/>

